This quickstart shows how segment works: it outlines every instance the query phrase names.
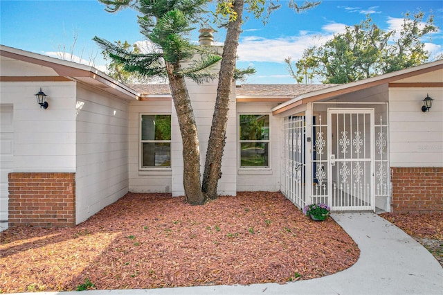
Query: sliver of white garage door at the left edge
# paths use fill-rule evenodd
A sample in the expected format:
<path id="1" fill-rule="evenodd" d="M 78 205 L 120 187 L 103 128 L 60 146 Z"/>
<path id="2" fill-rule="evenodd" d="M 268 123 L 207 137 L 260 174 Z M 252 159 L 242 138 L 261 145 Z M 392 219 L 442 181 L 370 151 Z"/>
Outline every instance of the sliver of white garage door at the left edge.
<path id="1" fill-rule="evenodd" d="M 8 229 L 8 173 L 12 172 L 12 107 L 0 106 L 0 231 Z"/>

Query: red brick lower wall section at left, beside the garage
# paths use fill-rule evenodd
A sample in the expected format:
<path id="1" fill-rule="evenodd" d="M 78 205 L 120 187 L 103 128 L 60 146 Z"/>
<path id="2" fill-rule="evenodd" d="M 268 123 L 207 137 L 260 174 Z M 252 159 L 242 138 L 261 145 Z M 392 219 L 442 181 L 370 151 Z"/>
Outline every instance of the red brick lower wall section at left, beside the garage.
<path id="1" fill-rule="evenodd" d="M 75 173 L 12 172 L 9 226 L 74 226 Z"/>

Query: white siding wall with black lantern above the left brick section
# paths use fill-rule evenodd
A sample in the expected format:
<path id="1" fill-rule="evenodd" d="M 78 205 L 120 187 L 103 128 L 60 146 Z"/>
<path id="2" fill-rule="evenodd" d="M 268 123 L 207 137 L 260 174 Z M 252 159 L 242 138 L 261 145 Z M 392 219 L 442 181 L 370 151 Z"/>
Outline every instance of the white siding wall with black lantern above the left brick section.
<path id="1" fill-rule="evenodd" d="M 40 87 L 48 109 L 35 99 Z M 0 89 L 1 104 L 14 109 L 12 170 L 75 172 L 75 82 L 2 82 Z"/>

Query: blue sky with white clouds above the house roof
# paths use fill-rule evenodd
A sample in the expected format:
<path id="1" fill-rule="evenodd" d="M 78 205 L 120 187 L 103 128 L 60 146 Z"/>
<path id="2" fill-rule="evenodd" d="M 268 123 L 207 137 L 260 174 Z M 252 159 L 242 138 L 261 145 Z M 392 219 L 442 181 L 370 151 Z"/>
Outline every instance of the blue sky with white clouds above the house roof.
<path id="1" fill-rule="evenodd" d="M 248 19 L 240 37 L 237 66 L 252 65 L 257 73 L 247 83 L 293 83 L 284 58 L 300 57 L 303 49 L 321 40 L 343 32 L 344 26 L 358 24 L 370 14 L 373 21 L 385 30 L 398 29 L 405 12 L 425 12 L 425 19 L 433 14 L 440 27 L 432 39 L 424 39 L 433 55 L 443 52 L 443 1 L 332 1 L 324 0 L 320 6 L 301 14 L 289 10 L 286 1 L 274 12 L 269 23 Z M 299 1 L 302 3 L 302 1 Z M 70 53 L 74 35 L 78 35 L 73 60 L 80 58 L 105 71 L 105 60 L 100 48 L 91 40 L 94 36 L 109 41 L 144 41 L 139 33 L 134 10 L 105 12 L 105 6 L 96 0 L 28 1 L 0 0 L 0 43 L 35 53 L 60 57 Z M 197 41 L 197 33 L 192 35 Z M 222 32 L 215 35 L 223 42 Z M 65 46 L 65 49 L 63 49 Z M 69 59 L 69 57 L 65 57 Z"/>

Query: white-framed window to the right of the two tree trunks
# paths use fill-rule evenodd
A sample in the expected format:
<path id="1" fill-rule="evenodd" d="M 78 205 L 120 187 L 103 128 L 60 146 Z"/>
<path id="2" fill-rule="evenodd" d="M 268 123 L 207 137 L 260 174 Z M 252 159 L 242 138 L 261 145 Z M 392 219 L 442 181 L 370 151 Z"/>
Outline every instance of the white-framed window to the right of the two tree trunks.
<path id="1" fill-rule="evenodd" d="M 269 115 L 239 116 L 240 167 L 269 167 Z"/>

